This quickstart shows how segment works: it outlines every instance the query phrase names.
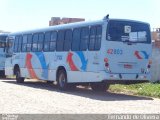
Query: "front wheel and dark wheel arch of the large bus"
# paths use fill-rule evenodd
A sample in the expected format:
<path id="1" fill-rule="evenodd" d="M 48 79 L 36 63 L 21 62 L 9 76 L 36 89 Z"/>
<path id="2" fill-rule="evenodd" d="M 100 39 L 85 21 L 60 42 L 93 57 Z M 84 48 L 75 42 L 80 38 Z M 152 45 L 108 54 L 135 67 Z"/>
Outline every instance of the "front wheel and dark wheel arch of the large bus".
<path id="1" fill-rule="evenodd" d="M 14 75 L 16 75 L 16 82 L 17 83 L 23 83 L 24 82 L 24 77 L 21 77 L 21 71 L 19 68 L 19 65 L 16 64 L 14 66 Z"/>

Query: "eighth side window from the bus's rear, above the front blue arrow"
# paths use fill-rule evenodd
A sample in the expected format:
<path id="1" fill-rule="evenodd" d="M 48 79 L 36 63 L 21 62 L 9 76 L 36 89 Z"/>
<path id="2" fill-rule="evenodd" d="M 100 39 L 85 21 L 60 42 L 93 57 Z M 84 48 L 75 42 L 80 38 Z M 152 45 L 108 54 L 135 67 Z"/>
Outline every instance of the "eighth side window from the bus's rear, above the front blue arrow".
<path id="1" fill-rule="evenodd" d="M 51 40 L 51 32 L 46 32 L 45 33 L 45 38 L 44 38 L 44 46 L 43 46 L 43 50 L 45 52 L 49 51 L 50 40 Z"/>

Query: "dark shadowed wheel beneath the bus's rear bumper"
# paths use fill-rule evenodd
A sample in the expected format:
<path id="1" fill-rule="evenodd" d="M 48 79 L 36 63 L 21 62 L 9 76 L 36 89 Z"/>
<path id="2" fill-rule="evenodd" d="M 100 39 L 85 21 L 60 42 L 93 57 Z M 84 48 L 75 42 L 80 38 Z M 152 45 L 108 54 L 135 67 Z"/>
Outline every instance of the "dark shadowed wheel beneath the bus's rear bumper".
<path id="1" fill-rule="evenodd" d="M 99 92 L 105 92 L 109 88 L 109 85 L 106 83 L 91 83 L 90 86 L 92 90 Z"/>

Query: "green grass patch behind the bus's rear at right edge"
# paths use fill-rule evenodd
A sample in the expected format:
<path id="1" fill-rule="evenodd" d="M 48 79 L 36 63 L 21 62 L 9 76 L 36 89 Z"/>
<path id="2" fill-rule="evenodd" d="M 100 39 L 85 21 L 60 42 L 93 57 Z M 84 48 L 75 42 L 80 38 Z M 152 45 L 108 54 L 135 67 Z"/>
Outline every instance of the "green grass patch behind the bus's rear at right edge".
<path id="1" fill-rule="evenodd" d="M 111 92 L 125 93 L 130 95 L 142 95 L 160 98 L 160 83 L 141 83 L 132 85 L 111 85 Z"/>

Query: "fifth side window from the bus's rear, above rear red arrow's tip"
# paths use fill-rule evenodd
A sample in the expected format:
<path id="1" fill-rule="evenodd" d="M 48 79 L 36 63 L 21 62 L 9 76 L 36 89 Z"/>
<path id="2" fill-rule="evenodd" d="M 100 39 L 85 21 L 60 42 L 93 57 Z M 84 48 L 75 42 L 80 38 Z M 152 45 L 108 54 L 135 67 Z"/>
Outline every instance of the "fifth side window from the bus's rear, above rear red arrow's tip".
<path id="1" fill-rule="evenodd" d="M 72 30 L 66 30 L 64 51 L 69 51 L 71 49 L 71 43 L 72 43 Z"/>

